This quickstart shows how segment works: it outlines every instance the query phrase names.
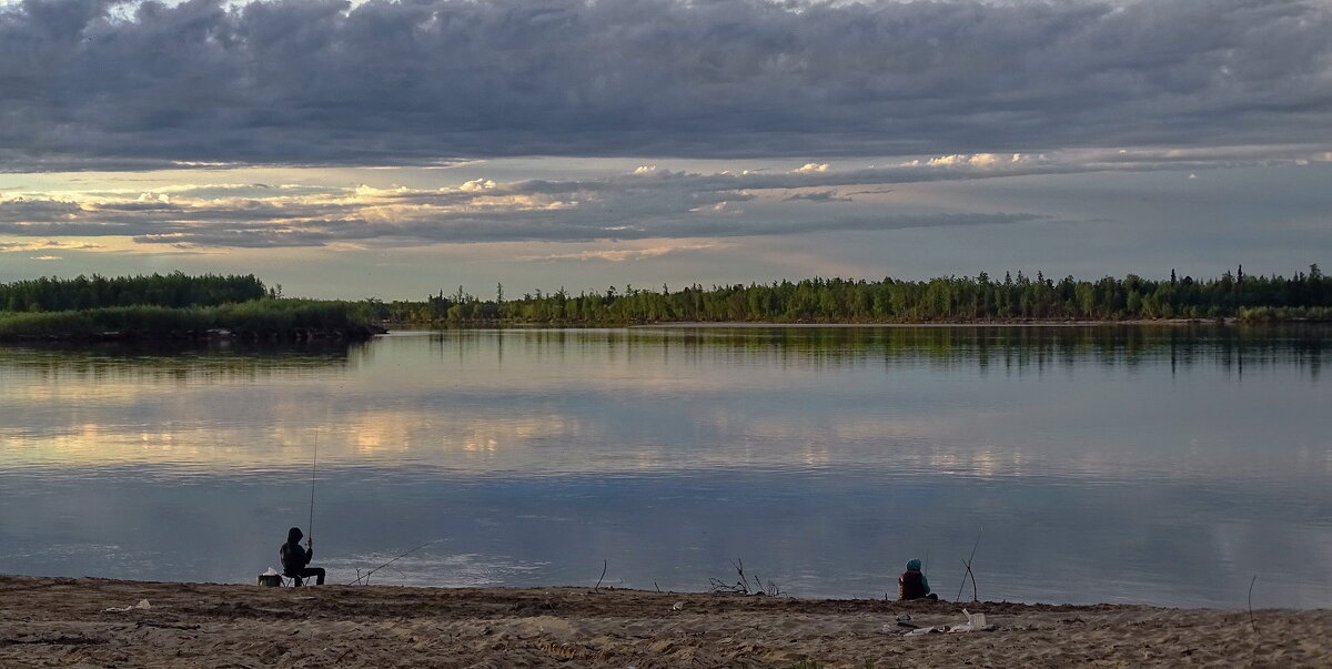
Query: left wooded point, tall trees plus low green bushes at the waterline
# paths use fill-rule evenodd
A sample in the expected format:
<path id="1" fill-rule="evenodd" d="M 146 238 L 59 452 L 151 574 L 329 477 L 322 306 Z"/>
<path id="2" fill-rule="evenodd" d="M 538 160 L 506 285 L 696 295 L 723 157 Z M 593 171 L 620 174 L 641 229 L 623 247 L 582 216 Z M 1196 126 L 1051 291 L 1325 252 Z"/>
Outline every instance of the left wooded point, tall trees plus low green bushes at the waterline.
<path id="1" fill-rule="evenodd" d="M 286 300 L 253 275 L 36 279 L 0 285 L 0 340 L 358 340 L 369 303 Z"/>

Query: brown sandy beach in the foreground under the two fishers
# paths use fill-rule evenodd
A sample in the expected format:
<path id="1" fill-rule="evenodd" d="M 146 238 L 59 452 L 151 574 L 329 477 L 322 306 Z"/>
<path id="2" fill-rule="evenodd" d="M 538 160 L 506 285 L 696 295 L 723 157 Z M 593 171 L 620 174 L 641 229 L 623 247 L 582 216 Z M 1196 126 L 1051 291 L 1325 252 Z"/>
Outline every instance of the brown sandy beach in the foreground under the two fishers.
<path id="1" fill-rule="evenodd" d="M 141 600 L 148 608 L 135 606 Z M 906 636 L 986 613 L 988 632 Z M 1332 666 L 1332 610 L 0 576 L 0 666 Z"/>

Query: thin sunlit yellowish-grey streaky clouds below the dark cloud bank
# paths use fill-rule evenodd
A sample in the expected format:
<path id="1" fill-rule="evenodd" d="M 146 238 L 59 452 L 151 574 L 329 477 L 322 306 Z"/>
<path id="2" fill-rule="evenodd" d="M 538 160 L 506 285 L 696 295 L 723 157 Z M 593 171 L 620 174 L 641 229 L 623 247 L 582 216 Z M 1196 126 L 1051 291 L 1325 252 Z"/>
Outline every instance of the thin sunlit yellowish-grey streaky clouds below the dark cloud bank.
<path id="1" fill-rule="evenodd" d="M 139 191 L 43 195 L 0 200 L 0 235 L 129 237 L 140 245 L 285 248 L 358 244 L 416 247 L 484 241 L 707 240 L 830 231 L 882 231 L 1040 220 L 1023 212 L 920 215 L 854 208 L 838 187 L 990 179 L 1106 167 L 1088 156 L 974 167 L 912 160 L 854 171 L 671 172 L 634 169 L 597 179 L 496 181 L 444 188 L 237 187 L 218 184 Z M 1139 169 L 1139 163 L 1132 163 Z M 1171 164 L 1173 167 L 1173 163 Z M 802 189 L 791 195 L 791 189 Z M 169 192 L 168 197 L 165 192 Z M 810 216 L 793 201 L 847 203 L 834 216 Z M 750 212 L 746 203 L 754 205 Z M 51 244 L 51 243 L 41 243 Z M 15 245 L 15 248 L 31 245 Z M 41 248 L 53 248 L 44 245 Z M 68 248 L 68 247 L 61 247 Z M 657 245 L 654 248 L 667 248 Z M 681 248 L 678 244 L 670 248 Z M 618 252 L 617 252 L 618 253 Z M 645 251 L 618 253 L 645 257 Z M 617 260 L 617 255 L 597 256 Z M 561 256 L 563 257 L 563 256 Z M 589 256 L 587 259 L 591 259 Z"/>

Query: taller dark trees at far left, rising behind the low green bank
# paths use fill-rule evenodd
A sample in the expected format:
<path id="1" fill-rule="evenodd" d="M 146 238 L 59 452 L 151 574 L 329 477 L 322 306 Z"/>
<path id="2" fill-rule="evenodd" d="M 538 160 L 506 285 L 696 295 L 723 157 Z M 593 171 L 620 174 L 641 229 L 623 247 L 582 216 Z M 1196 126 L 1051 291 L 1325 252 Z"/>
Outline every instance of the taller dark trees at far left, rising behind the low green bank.
<path id="1" fill-rule="evenodd" d="M 173 272 L 113 279 L 99 275 L 91 279 L 41 277 L 0 284 L 0 312 L 63 312 L 135 305 L 214 307 L 265 296 L 269 292 L 254 275 L 188 276 Z"/>

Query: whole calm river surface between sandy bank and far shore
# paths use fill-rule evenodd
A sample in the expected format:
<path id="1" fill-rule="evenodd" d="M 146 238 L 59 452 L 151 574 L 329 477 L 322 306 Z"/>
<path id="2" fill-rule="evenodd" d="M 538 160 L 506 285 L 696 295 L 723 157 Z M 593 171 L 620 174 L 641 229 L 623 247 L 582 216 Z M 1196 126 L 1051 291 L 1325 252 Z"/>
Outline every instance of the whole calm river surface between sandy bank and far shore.
<path id="1" fill-rule="evenodd" d="M 0 348 L 0 572 L 1332 606 L 1328 329 Z M 979 537 L 979 544 L 978 544 Z M 971 585 L 966 586 L 966 597 Z"/>

